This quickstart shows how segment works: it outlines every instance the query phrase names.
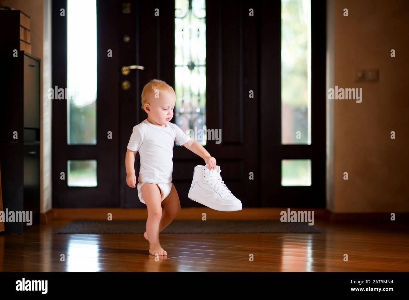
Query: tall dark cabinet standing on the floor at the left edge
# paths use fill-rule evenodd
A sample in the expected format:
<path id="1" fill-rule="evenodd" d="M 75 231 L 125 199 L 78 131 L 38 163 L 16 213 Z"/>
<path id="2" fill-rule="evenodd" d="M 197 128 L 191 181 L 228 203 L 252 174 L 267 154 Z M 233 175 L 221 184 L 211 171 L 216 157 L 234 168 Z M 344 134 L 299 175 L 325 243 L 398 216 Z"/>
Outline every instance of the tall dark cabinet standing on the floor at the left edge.
<path id="1" fill-rule="evenodd" d="M 23 233 L 40 219 L 40 59 L 0 51 L 0 167 L 4 233 Z"/>

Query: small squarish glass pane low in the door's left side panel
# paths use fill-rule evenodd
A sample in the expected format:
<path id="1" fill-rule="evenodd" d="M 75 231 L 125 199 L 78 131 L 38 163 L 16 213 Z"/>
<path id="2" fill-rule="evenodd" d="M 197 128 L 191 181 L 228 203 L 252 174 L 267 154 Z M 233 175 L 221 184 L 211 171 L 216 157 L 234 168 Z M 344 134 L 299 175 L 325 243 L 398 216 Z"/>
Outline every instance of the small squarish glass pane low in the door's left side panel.
<path id="1" fill-rule="evenodd" d="M 68 186 L 97 186 L 97 161 L 95 159 L 69 159 Z"/>

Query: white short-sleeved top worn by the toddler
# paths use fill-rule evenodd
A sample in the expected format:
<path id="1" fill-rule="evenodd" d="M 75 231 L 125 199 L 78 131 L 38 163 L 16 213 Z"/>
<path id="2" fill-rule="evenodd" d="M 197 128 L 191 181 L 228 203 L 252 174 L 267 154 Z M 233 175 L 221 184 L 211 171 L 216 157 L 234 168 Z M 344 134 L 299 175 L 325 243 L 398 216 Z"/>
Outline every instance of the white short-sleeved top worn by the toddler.
<path id="1" fill-rule="evenodd" d="M 182 146 L 190 140 L 191 138 L 174 123 L 169 122 L 164 127 L 154 125 L 145 119 L 134 126 L 127 148 L 139 151 L 141 157 L 139 182 L 170 183 L 174 142 Z"/>

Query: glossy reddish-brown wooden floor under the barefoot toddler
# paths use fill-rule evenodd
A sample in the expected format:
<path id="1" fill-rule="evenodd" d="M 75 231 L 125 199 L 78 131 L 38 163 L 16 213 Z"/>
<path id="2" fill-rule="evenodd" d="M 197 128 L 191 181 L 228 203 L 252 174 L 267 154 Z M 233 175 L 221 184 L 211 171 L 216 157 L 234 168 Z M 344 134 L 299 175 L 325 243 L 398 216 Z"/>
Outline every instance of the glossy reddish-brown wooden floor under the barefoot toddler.
<path id="1" fill-rule="evenodd" d="M 155 261 L 142 234 L 54 233 L 67 222 L 0 235 L 0 271 L 409 271 L 407 224 L 316 220 L 323 233 L 160 234 L 168 255 Z"/>

